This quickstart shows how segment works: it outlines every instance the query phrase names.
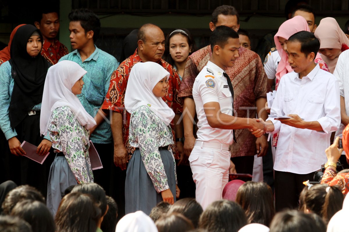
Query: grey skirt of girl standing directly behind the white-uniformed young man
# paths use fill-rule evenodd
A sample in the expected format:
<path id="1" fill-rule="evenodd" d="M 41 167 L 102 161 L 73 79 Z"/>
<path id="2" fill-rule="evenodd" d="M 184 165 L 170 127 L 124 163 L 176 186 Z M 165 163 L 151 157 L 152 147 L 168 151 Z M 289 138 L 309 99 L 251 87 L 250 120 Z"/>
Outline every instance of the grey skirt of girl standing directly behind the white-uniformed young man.
<path id="1" fill-rule="evenodd" d="M 176 176 L 172 153 L 167 150 L 159 150 L 167 182 L 176 201 Z M 163 201 L 161 193 L 157 193 L 151 181 L 144 163 L 141 152 L 137 149 L 128 163 L 125 182 L 125 213 L 134 213 L 141 210 L 149 215 L 151 209 L 157 203 Z"/>

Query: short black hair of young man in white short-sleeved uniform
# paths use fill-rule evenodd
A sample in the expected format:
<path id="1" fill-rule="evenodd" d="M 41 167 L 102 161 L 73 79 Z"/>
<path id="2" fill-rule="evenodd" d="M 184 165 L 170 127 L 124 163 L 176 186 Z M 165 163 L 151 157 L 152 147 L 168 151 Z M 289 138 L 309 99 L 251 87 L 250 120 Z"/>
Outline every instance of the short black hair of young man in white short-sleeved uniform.
<path id="1" fill-rule="evenodd" d="M 239 39 L 239 34 L 230 27 L 217 26 L 210 36 L 211 51 L 215 45 L 223 48 L 230 38 Z"/>

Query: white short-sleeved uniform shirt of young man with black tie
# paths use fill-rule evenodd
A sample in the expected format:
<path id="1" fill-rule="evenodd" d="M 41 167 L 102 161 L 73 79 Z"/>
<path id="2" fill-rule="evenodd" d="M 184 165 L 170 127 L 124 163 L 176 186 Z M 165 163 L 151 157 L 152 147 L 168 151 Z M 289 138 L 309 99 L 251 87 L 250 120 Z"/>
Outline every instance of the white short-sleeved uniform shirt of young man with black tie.
<path id="1" fill-rule="evenodd" d="M 224 70 L 208 61 L 193 85 L 193 98 L 198 116 L 199 141 L 214 142 L 230 145 L 233 143 L 233 131 L 212 128 L 208 125 L 203 105 L 208 102 L 218 102 L 221 112 L 232 115 L 233 99 L 229 90 L 227 78 L 223 76 Z"/>

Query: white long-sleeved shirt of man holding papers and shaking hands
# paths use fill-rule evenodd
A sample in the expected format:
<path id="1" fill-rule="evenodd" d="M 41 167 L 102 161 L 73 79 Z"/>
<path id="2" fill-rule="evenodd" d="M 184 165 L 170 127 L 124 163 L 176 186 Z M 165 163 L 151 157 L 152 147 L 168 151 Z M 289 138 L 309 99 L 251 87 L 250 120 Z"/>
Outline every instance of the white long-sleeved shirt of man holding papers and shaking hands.
<path id="1" fill-rule="evenodd" d="M 277 142 L 274 169 L 308 174 L 321 168 L 327 160 L 325 149 L 331 132 L 340 125 L 339 83 L 319 65 L 302 79 L 290 72 L 280 80 L 270 114 L 298 114 L 305 121 L 318 121 L 324 131 L 298 129 L 268 118 L 274 123 Z"/>

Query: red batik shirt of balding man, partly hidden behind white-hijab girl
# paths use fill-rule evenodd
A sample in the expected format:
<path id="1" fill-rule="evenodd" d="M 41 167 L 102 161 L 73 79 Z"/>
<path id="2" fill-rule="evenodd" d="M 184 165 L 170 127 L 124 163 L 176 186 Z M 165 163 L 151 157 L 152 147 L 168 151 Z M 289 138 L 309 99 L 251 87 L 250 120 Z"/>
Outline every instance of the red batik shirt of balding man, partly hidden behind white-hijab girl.
<path id="1" fill-rule="evenodd" d="M 112 110 L 122 114 L 124 118 L 124 123 L 122 123 L 122 135 L 124 136 L 124 145 L 129 155 L 129 159 L 131 158 L 131 154 L 134 152 L 135 148 L 132 147 L 128 142 L 128 131 L 130 124 L 130 114 L 124 110 L 124 99 L 125 99 L 125 91 L 127 86 L 127 81 L 129 74 L 133 65 L 138 62 L 143 62 L 141 57 L 138 55 L 138 50 L 134 52 L 134 54 L 125 61 L 123 61 L 120 66 L 115 70 L 110 78 L 109 90 L 105 96 L 104 103 L 102 105 L 103 110 Z M 161 59 L 158 62 L 159 65 L 163 66 L 166 71 L 170 73 L 169 82 L 168 82 L 168 91 L 166 96 L 162 99 L 168 104 L 168 106 L 174 111 L 175 114 L 181 114 L 183 111 L 183 103 L 182 99 L 178 97 L 178 90 L 180 85 L 180 79 L 178 73 L 173 67 Z M 131 88 L 134 91 L 137 91 L 136 86 L 132 86 Z M 172 125 L 172 129 L 174 126 Z M 174 130 L 172 130 L 173 138 Z M 174 142 L 174 141 L 173 141 Z M 176 143 L 173 143 L 171 146 L 174 154 L 177 153 Z M 177 155 L 176 155 L 177 158 Z"/>

